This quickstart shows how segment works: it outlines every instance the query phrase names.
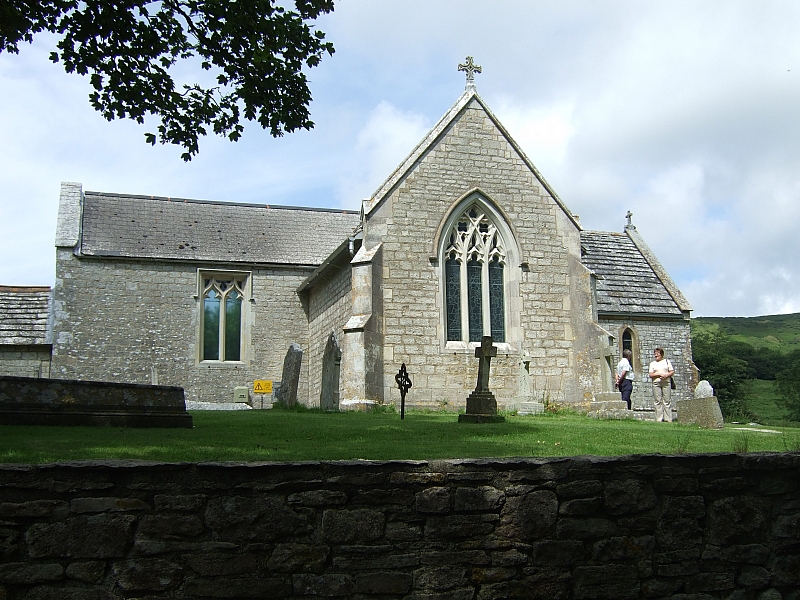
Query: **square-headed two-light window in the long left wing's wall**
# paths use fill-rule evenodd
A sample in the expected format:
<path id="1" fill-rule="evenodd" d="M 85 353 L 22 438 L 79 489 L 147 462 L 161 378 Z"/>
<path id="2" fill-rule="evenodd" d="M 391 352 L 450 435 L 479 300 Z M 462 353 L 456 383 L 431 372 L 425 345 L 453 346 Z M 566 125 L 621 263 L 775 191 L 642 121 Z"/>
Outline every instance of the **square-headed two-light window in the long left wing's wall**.
<path id="1" fill-rule="evenodd" d="M 242 360 L 245 278 L 206 276 L 202 295 L 202 360 Z"/>

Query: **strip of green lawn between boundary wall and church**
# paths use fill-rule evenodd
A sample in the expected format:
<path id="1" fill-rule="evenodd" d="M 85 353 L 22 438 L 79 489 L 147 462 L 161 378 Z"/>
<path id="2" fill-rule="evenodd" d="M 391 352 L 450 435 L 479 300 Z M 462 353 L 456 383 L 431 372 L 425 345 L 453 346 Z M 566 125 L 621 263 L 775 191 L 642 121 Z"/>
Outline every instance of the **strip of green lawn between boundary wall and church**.
<path id="1" fill-rule="evenodd" d="M 457 422 L 453 413 L 193 412 L 193 429 L 0 426 L 0 462 L 78 459 L 302 461 L 583 454 L 682 454 L 800 449 L 800 429 L 722 431 L 576 414 Z"/>

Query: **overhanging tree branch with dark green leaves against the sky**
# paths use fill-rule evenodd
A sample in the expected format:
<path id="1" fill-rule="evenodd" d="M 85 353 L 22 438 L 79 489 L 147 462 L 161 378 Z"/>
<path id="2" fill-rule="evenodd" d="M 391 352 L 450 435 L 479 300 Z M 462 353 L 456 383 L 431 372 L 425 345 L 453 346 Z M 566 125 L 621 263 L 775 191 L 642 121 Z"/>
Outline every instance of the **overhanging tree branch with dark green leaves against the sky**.
<path id="1" fill-rule="evenodd" d="M 10 0 L 0 52 L 39 31 L 63 34 L 50 59 L 90 75 L 92 106 L 108 120 L 157 118 L 145 141 L 179 145 L 188 161 L 209 128 L 238 140 L 242 117 L 275 137 L 314 126 L 303 69 L 334 48 L 307 21 L 332 10 L 332 0 L 296 0 L 295 10 L 275 0 Z M 176 83 L 176 65 L 197 59 L 215 84 Z"/>

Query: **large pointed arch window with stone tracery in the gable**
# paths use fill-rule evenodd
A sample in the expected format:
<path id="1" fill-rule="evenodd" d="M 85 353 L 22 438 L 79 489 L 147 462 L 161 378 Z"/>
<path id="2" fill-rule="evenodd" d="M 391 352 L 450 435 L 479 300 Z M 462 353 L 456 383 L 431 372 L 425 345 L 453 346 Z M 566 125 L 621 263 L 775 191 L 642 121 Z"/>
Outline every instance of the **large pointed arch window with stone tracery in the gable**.
<path id="1" fill-rule="evenodd" d="M 444 246 L 447 341 L 506 341 L 506 245 L 480 204 L 453 222 Z"/>

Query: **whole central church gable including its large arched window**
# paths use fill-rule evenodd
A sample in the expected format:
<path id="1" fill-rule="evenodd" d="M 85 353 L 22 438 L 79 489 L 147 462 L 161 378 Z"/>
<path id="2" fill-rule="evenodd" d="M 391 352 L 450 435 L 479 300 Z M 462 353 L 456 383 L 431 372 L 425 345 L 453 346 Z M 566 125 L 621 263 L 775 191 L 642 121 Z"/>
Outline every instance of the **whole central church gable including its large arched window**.
<path id="1" fill-rule="evenodd" d="M 420 399 L 463 402 L 484 335 L 498 347 L 501 402 L 520 394 L 524 354 L 540 361 L 530 385 L 553 398 L 571 393 L 570 357 L 586 343 L 573 326 L 573 288 L 589 292 L 588 278 L 574 272 L 582 269 L 580 228 L 474 91 L 365 201 L 364 213 L 365 247 L 383 248 L 382 314 L 373 320 L 385 324 L 385 397 L 406 362 L 420 378 Z"/>

